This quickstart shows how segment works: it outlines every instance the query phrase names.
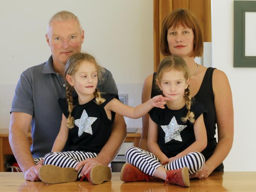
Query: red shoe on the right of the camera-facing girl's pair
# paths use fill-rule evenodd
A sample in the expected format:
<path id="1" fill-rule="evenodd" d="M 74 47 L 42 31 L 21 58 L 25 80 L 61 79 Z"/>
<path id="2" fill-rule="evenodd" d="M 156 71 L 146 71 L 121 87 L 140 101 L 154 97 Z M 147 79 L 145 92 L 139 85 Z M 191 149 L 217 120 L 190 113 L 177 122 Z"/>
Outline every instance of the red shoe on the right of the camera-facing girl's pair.
<path id="1" fill-rule="evenodd" d="M 180 186 L 189 186 L 188 168 L 184 167 L 177 170 L 168 170 L 165 183 L 175 184 Z"/>

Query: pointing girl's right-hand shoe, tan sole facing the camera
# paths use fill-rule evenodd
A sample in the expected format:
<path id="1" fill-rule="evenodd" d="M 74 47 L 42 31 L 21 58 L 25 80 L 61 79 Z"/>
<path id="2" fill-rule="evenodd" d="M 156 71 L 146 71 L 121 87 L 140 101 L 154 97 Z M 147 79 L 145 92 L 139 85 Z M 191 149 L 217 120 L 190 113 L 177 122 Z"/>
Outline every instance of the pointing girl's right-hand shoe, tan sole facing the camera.
<path id="1" fill-rule="evenodd" d="M 110 181 L 111 169 L 108 166 L 95 165 L 87 175 L 83 175 L 80 181 L 83 181 L 84 179 L 88 180 L 93 185 L 101 184 L 104 181 Z"/>

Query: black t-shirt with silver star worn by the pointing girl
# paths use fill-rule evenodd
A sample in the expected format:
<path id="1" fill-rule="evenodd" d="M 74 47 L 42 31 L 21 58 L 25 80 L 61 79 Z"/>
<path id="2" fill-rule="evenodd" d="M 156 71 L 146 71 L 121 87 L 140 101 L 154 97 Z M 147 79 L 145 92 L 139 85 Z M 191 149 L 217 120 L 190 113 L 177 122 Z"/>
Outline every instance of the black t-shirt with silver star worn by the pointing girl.
<path id="1" fill-rule="evenodd" d="M 108 119 L 105 105 L 118 98 L 117 94 L 102 94 L 106 99 L 101 105 L 97 105 L 95 98 L 83 105 L 78 104 L 78 97 L 74 97 L 74 109 L 71 115 L 74 117 L 75 126 L 69 130 L 67 151 L 85 151 L 99 153 L 108 141 L 111 134 L 111 126 L 115 120 L 115 113 L 111 113 Z M 68 118 L 68 105 L 66 98 L 59 99 L 59 105 L 63 114 Z"/>

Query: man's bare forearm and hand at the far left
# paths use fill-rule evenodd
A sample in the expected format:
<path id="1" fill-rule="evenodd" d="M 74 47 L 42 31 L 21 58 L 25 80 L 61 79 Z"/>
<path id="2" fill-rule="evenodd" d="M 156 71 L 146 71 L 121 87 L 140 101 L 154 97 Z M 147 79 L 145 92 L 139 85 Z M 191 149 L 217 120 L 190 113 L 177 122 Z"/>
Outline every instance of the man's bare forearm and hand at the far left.
<path id="1" fill-rule="evenodd" d="M 38 169 L 41 164 L 35 165 L 28 143 L 28 130 L 32 116 L 27 113 L 12 112 L 9 127 L 9 143 L 25 179 L 39 181 Z"/>

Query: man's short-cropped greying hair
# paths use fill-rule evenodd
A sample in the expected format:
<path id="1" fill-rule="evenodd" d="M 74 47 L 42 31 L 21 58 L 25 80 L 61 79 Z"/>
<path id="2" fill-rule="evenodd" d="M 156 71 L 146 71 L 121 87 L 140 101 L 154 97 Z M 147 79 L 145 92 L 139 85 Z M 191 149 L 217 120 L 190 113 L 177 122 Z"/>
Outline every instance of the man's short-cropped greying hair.
<path id="1" fill-rule="evenodd" d="M 48 26 L 47 26 L 47 33 L 49 31 L 50 23 L 53 22 L 54 20 L 65 21 L 65 20 L 70 20 L 70 19 L 74 19 L 74 20 L 76 20 L 78 22 L 80 31 L 82 32 L 83 29 L 82 29 L 80 20 L 78 19 L 78 17 L 76 17 L 76 15 L 74 15 L 74 13 L 71 13 L 70 11 L 59 11 L 58 13 L 55 13 L 50 18 L 50 20 L 48 22 Z"/>

